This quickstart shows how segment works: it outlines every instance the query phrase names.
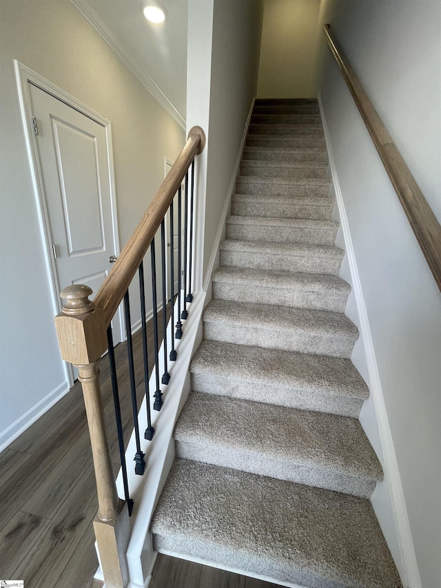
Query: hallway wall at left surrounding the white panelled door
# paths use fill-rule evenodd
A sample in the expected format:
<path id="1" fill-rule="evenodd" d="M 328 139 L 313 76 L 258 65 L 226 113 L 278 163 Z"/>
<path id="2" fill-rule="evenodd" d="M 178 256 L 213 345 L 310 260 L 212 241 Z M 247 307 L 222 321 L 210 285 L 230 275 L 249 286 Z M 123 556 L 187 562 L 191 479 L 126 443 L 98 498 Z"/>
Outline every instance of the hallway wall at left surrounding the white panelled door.
<path id="1" fill-rule="evenodd" d="M 12 60 L 112 122 L 121 246 L 185 135 L 70 1 L 1 0 L 0 27 L 2 445 L 66 389 Z"/>

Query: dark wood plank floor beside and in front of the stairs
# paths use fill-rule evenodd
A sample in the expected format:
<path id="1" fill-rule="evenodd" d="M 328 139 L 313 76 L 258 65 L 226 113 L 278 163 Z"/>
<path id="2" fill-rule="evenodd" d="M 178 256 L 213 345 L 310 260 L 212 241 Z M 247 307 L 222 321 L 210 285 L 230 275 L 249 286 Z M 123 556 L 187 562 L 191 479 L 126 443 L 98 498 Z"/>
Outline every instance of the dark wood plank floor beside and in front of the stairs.
<path id="1" fill-rule="evenodd" d="M 161 325 L 161 316 L 158 323 Z M 153 327 L 147 325 L 149 365 Z M 162 334 L 160 332 L 160 336 Z M 136 389 L 143 397 L 141 331 L 133 338 Z M 125 343 L 115 347 L 125 442 L 132 432 L 132 404 Z M 101 390 L 115 469 L 119 450 L 107 357 Z M 0 578 L 25 580 L 26 588 L 98 588 L 92 520 L 97 511 L 90 438 L 78 381 L 66 396 L 0 454 Z M 269 588 L 267 582 L 159 556 L 152 588 Z"/>

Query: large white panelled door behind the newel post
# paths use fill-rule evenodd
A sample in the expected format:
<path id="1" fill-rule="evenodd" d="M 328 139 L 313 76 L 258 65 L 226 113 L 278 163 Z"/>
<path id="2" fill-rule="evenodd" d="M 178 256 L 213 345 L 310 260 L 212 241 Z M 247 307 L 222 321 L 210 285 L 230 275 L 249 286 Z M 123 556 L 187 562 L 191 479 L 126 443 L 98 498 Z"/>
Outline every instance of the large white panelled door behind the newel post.
<path id="1" fill-rule="evenodd" d="M 80 283 L 96 294 L 116 253 L 105 128 L 32 83 L 29 90 L 59 290 Z M 112 321 L 115 344 L 120 325 Z"/>

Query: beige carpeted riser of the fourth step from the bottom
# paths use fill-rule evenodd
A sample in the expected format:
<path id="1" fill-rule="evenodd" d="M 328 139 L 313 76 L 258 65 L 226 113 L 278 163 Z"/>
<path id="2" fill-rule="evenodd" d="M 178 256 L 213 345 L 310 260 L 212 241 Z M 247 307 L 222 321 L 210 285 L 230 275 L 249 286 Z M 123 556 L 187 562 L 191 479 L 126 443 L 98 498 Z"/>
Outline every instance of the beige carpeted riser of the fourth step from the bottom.
<path id="1" fill-rule="evenodd" d="M 203 337 L 211 341 L 225 341 L 237 345 L 255 345 L 268 349 L 285 349 L 316 355 L 332 357 L 351 357 L 356 338 L 351 334 L 336 332 L 307 332 L 298 328 L 274 330 L 274 327 L 260 325 L 258 316 L 256 324 L 249 327 L 234 321 L 204 321 Z"/>

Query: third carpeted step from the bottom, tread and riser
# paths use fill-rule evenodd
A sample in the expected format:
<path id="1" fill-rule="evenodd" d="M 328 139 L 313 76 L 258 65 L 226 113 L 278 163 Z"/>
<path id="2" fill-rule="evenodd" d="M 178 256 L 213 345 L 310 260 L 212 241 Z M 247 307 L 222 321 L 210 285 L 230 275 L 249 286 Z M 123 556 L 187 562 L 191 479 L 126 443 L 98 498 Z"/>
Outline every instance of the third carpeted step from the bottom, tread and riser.
<path id="1" fill-rule="evenodd" d="M 298 394 L 307 409 L 312 409 L 314 396 L 336 397 L 342 403 L 369 396 L 351 361 L 281 349 L 205 340 L 194 354 L 190 371 L 197 392 L 290 407 L 298 406 Z M 314 402 L 315 406 L 319 405 Z"/>

